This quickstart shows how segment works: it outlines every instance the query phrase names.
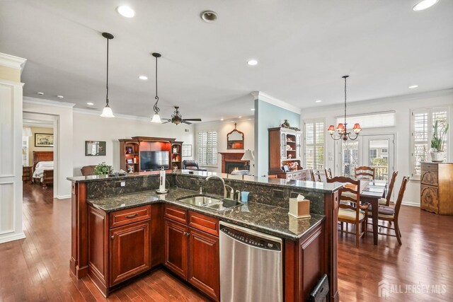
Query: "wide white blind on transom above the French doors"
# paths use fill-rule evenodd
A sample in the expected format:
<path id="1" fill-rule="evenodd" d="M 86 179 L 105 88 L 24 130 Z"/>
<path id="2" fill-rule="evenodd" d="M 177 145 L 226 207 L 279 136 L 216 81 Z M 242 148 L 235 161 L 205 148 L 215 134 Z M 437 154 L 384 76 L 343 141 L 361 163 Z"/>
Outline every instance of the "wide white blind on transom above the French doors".
<path id="1" fill-rule="evenodd" d="M 337 124 L 344 123 L 345 117 L 337 117 Z M 348 115 L 346 116 L 348 129 L 352 130 L 355 123 L 359 123 L 362 129 L 366 128 L 379 128 L 379 127 L 394 127 L 395 126 L 395 112 L 374 112 L 366 115 Z"/>

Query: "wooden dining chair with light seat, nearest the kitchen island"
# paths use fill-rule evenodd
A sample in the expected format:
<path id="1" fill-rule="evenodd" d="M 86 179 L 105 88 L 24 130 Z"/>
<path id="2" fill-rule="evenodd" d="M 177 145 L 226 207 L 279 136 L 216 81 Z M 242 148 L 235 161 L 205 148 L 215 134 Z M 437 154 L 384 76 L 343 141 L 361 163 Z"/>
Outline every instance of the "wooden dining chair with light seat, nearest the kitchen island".
<path id="1" fill-rule="evenodd" d="M 344 176 L 328 178 L 327 182 L 345 182 L 339 191 L 340 203 L 338 204 L 338 221 L 341 223 L 340 232 L 354 234 L 355 246 L 359 248 L 360 237 L 367 236 L 368 204 L 360 205 L 360 180 L 353 180 Z M 355 225 L 355 231 L 343 229 L 343 223 Z M 362 225 L 362 230 L 360 230 Z"/>

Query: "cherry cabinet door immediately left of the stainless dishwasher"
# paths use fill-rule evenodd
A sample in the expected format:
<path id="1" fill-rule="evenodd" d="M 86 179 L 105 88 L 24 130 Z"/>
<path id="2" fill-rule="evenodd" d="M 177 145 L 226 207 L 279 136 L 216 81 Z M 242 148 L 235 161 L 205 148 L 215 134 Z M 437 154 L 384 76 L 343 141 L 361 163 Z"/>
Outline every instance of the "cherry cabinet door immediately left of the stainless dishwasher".
<path id="1" fill-rule="evenodd" d="M 197 289 L 219 301 L 219 238 L 189 228 L 188 281 Z"/>

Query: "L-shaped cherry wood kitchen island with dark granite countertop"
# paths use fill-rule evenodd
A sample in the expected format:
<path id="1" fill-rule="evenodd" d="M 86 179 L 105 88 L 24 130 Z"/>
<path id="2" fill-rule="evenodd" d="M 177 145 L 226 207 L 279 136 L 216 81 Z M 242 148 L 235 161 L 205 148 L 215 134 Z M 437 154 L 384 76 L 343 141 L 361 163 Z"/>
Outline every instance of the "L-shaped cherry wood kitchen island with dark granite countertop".
<path id="1" fill-rule="evenodd" d="M 223 195 L 218 180 L 204 183 L 212 174 L 168 171 L 168 194 L 155 192 L 158 173 L 68 178 L 72 181 L 71 272 L 78 278 L 89 275 L 108 296 L 123 281 L 164 265 L 219 301 L 219 221 L 226 221 L 282 238 L 285 301 L 306 301 L 323 274 L 328 276 L 329 301 L 338 301 L 339 186 L 219 174 L 235 190 L 251 192 L 249 202 L 214 211 L 178 200 L 196 194 L 199 187 Z M 311 200 L 311 219 L 288 216 L 288 199 L 297 194 Z"/>

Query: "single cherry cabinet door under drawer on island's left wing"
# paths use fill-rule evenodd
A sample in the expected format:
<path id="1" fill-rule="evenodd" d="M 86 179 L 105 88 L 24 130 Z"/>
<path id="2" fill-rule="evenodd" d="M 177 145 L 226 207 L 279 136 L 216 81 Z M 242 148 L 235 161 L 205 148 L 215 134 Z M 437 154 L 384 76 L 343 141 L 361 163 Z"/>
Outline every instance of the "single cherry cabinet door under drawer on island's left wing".
<path id="1" fill-rule="evenodd" d="M 151 268 L 150 222 L 110 230 L 110 286 Z"/>

